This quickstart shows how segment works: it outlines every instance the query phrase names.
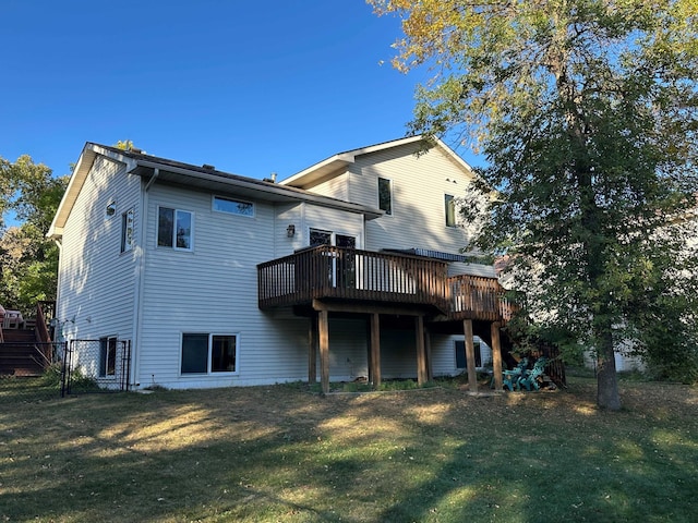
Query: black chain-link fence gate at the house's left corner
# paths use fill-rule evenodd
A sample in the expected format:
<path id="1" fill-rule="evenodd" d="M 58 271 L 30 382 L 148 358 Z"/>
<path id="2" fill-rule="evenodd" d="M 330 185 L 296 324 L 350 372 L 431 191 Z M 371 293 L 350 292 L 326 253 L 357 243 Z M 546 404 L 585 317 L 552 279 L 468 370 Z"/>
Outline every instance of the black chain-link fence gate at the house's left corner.
<path id="1" fill-rule="evenodd" d="M 131 340 L 116 337 L 69 340 L 63 358 L 61 397 L 129 390 Z"/>

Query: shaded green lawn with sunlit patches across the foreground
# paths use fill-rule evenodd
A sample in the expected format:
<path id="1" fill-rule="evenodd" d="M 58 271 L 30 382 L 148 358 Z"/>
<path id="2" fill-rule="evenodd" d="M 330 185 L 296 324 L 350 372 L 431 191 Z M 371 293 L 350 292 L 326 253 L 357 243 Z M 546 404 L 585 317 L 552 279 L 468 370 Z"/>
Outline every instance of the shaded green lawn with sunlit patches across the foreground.
<path id="1" fill-rule="evenodd" d="M 594 392 L 0 390 L 0 521 L 696 521 L 698 389 Z"/>

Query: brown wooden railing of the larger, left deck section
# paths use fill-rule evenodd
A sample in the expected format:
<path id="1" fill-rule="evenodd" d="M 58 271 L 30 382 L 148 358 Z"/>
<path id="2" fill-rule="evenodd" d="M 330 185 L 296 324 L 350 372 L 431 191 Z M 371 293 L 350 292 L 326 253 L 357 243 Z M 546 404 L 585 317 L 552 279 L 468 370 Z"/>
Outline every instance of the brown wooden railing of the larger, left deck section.
<path id="1" fill-rule="evenodd" d="M 257 266 L 260 308 L 318 299 L 448 309 L 447 263 L 329 245 Z"/>

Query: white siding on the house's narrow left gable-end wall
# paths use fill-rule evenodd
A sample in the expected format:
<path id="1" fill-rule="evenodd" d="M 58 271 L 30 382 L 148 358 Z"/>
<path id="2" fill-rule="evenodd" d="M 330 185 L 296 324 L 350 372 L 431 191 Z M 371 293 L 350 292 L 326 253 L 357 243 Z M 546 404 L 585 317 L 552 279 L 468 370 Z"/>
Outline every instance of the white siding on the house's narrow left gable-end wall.
<path id="1" fill-rule="evenodd" d="M 67 338 L 132 339 L 135 251 L 121 253 L 123 212 L 133 212 L 139 231 L 141 178 L 98 157 L 68 218 L 59 264 L 58 312 Z M 113 206 L 108 216 L 107 207 Z M 68 320 L 68 321 L 67 321 Z"/>

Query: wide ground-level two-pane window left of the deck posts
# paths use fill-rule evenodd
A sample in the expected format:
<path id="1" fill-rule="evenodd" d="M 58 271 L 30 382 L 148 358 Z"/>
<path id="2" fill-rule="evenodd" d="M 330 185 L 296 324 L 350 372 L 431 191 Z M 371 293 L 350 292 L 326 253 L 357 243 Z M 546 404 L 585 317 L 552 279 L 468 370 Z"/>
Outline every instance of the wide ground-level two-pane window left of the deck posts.
<path id="1" fill-rule="evenodd" d="M 236 335 L 182 335 L 182 374 L 237 372 Z"/>

